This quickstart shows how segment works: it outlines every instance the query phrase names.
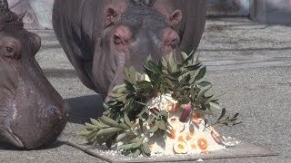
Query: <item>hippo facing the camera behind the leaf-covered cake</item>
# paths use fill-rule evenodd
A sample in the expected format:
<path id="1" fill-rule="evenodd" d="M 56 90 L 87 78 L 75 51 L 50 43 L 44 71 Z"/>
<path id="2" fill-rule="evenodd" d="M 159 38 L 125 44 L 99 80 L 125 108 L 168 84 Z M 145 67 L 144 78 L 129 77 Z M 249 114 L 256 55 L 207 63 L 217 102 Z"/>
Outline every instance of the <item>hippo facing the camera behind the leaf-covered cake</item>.
<path id="1" fill-rule="evenodd" d="M 204 0 L 55 0 L 53 26 L 81 82 L 104 98 L 140 72 L 143 61 L 196 51 L 206 24 Z"/>

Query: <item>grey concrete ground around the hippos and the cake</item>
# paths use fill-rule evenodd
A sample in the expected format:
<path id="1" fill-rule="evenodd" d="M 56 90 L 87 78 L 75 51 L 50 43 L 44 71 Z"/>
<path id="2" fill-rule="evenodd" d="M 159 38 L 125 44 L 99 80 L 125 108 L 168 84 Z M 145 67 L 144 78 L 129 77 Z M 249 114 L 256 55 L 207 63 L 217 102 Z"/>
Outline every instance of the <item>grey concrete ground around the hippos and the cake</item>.
<path id="1" fill-rule="evenodd" d="M 36 59 L 71 104 L 71 117 L 51 147 L 28 151 L 0 145 L 0 162 L 101 162 L 64 144 L 78 138 L 85 120 L 100 114 L 101 97 L 77 79 L 53 31 L 33 32 L 43 39 Z M 207 66 L 206 79 L 214 84 L 215 97 L 230 114 L 239 112 L 244 120 L 218 130 L 279 153 L 206 162 L 291 162 L 291 28 L 243 18 L 208 20 L 197 53 Z"/>

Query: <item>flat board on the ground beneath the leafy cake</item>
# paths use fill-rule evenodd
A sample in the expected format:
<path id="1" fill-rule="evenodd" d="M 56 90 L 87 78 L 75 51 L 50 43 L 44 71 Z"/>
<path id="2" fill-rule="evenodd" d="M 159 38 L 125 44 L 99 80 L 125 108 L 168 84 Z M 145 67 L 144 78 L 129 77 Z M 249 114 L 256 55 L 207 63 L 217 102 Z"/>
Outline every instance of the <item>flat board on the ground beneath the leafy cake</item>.
<path id="1" fill-rule="evenodd" d="M 276 156 L 273 150 L 266 149 L 255 144 L 241 141 L 239 144 L 227 147 L 224 150 L 211 152 L 208 154 L 200 155 L 175 155 L 175 156 L 152 156 L 150 158 L 138 157 L 130 158 L 121 155 L 119 152 L 107 149 L 92 149 L 91 146 L 86 146 L 78 140 L 68 140 L 66 144 L 75 147 L 76 149 L 83 150 L 97 158 L 104 159 L 108 162 L 176 162 L 176 161 L 191 161 L 197 159 L 218 159 L 218 158 L 246 158 L 246 157 L 266 157 Z"/>

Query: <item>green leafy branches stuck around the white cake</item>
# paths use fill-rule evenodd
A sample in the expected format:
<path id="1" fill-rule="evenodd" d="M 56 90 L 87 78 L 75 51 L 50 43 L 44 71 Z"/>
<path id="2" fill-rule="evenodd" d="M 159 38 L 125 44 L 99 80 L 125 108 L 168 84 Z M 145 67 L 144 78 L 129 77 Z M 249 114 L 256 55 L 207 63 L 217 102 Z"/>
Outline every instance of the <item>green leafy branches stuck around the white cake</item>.
<path id="1" fill-rule="evenodd" d="M 147 58 L 143 64 L 144 73 L 136 72 L 132 66 L 125 68 L 124 83 L 110 92 L 112 100 L 104 103 L 104 115 L 85 123 L 85 130 L 80 135 L 93 147 L 105 144 L 111 148 L 117 144 L 126 156 L 148 157 L 150 149 L 145 138 L 161 131 L 166 134 L 172 129 L 166 110 L 148 106 L 148 101 L 166 93 L 170 93 L 184 110 L 183 120 L 195 112 L 213 115 L 216 110 L 222 110 L 218 120 L 206 127 L 239 124 L 236 122 L 238 113 L 232 118 L 226 116 L 226 109 L 222 109 L 213 96 L 206 95 L 212 84 L 204 80 L 206 67 L 198 58 L 196 61 L 193 58 L 193 52 L 189 55 L 181 53 L 182 62 L 175 62 L 170 53 L 158 62 Z"/>

